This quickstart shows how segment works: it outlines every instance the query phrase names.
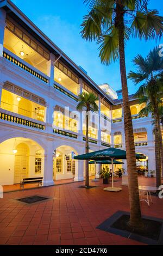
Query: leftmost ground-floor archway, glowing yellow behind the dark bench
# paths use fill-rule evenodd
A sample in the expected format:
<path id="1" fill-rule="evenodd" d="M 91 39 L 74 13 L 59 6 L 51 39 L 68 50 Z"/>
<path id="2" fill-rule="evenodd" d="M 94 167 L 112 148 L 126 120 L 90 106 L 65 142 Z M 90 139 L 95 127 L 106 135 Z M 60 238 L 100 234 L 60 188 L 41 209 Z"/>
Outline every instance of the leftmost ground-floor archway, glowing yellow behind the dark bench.
<path id="1" fill-rule="evenodd" d="M 0 144 L 1 185 L 18 184 L 23 178 L 43 176 L 45 150 L 30 138 L 16 137 Z"/>

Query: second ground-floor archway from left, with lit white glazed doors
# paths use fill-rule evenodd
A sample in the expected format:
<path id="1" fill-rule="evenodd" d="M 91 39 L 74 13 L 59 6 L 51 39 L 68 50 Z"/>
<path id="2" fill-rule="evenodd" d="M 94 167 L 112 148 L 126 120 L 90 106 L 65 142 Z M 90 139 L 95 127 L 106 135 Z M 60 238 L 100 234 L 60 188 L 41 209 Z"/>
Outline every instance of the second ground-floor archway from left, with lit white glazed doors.
<path id="1" fill-rule="evenodd" d="M 73 159 L 77 151 L 68 146 L 62 145 L 54 150 L 53 153 L 53 179 L 71 179 L 76 175 L 78 161 Z"/>

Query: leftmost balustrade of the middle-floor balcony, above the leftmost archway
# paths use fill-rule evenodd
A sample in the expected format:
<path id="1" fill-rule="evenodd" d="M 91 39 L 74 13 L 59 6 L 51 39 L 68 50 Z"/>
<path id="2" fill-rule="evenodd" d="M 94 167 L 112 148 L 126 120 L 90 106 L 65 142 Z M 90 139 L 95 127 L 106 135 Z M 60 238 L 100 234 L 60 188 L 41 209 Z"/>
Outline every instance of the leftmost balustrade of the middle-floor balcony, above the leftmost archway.
<path id="1" fill-rule="evenodd" d="M 15 124 L 29 126 L 29 127 L 39 129 L 39 130 L 45 130 L 45 125 L 36 123 L 35 121 L 32 121 L 32 120 L 24 119 L 21 117 L 16 117 L 15 115 L 4 113 L 2 111 L 0 111 L 0 119 L 9 121 L 9 122 L 15 123 Z"/>

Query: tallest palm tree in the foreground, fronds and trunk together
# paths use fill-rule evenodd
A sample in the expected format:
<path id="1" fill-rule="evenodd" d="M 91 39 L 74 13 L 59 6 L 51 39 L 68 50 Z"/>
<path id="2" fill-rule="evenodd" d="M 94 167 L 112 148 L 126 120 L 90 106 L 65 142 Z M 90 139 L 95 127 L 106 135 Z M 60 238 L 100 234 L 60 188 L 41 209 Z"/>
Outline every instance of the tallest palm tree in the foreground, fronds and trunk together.
<path id="1" fill-rule="evenodd" d="M 158 16 L 156 10 L 148 11 L 146 0 L 84 0 L 84 3 L 89 4 L 89 13 L 84 16 L 82 37 L 88 41 L 97 41 L 99 57 L 103 64 L 108 65 L 120 58 L 129 180 L 129 225 L 142 228 L 133 124 L 128 99 L 125 44 L 130 36 L 146 40 L 161 36 L 162 17 Z"/>

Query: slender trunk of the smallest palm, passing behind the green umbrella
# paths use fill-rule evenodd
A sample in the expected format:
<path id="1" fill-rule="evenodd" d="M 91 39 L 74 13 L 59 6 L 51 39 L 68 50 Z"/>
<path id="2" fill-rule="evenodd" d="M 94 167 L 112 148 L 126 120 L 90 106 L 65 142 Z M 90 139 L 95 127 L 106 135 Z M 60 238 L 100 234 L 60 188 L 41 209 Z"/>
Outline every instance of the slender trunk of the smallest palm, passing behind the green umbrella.
<path id="1" fill-rule="evenodd" d="M 89 119 L 86 112 L 85 154 L 89 153 Z M 85 187 L 89 187 L 89 160 L 85 160 Z"/>

